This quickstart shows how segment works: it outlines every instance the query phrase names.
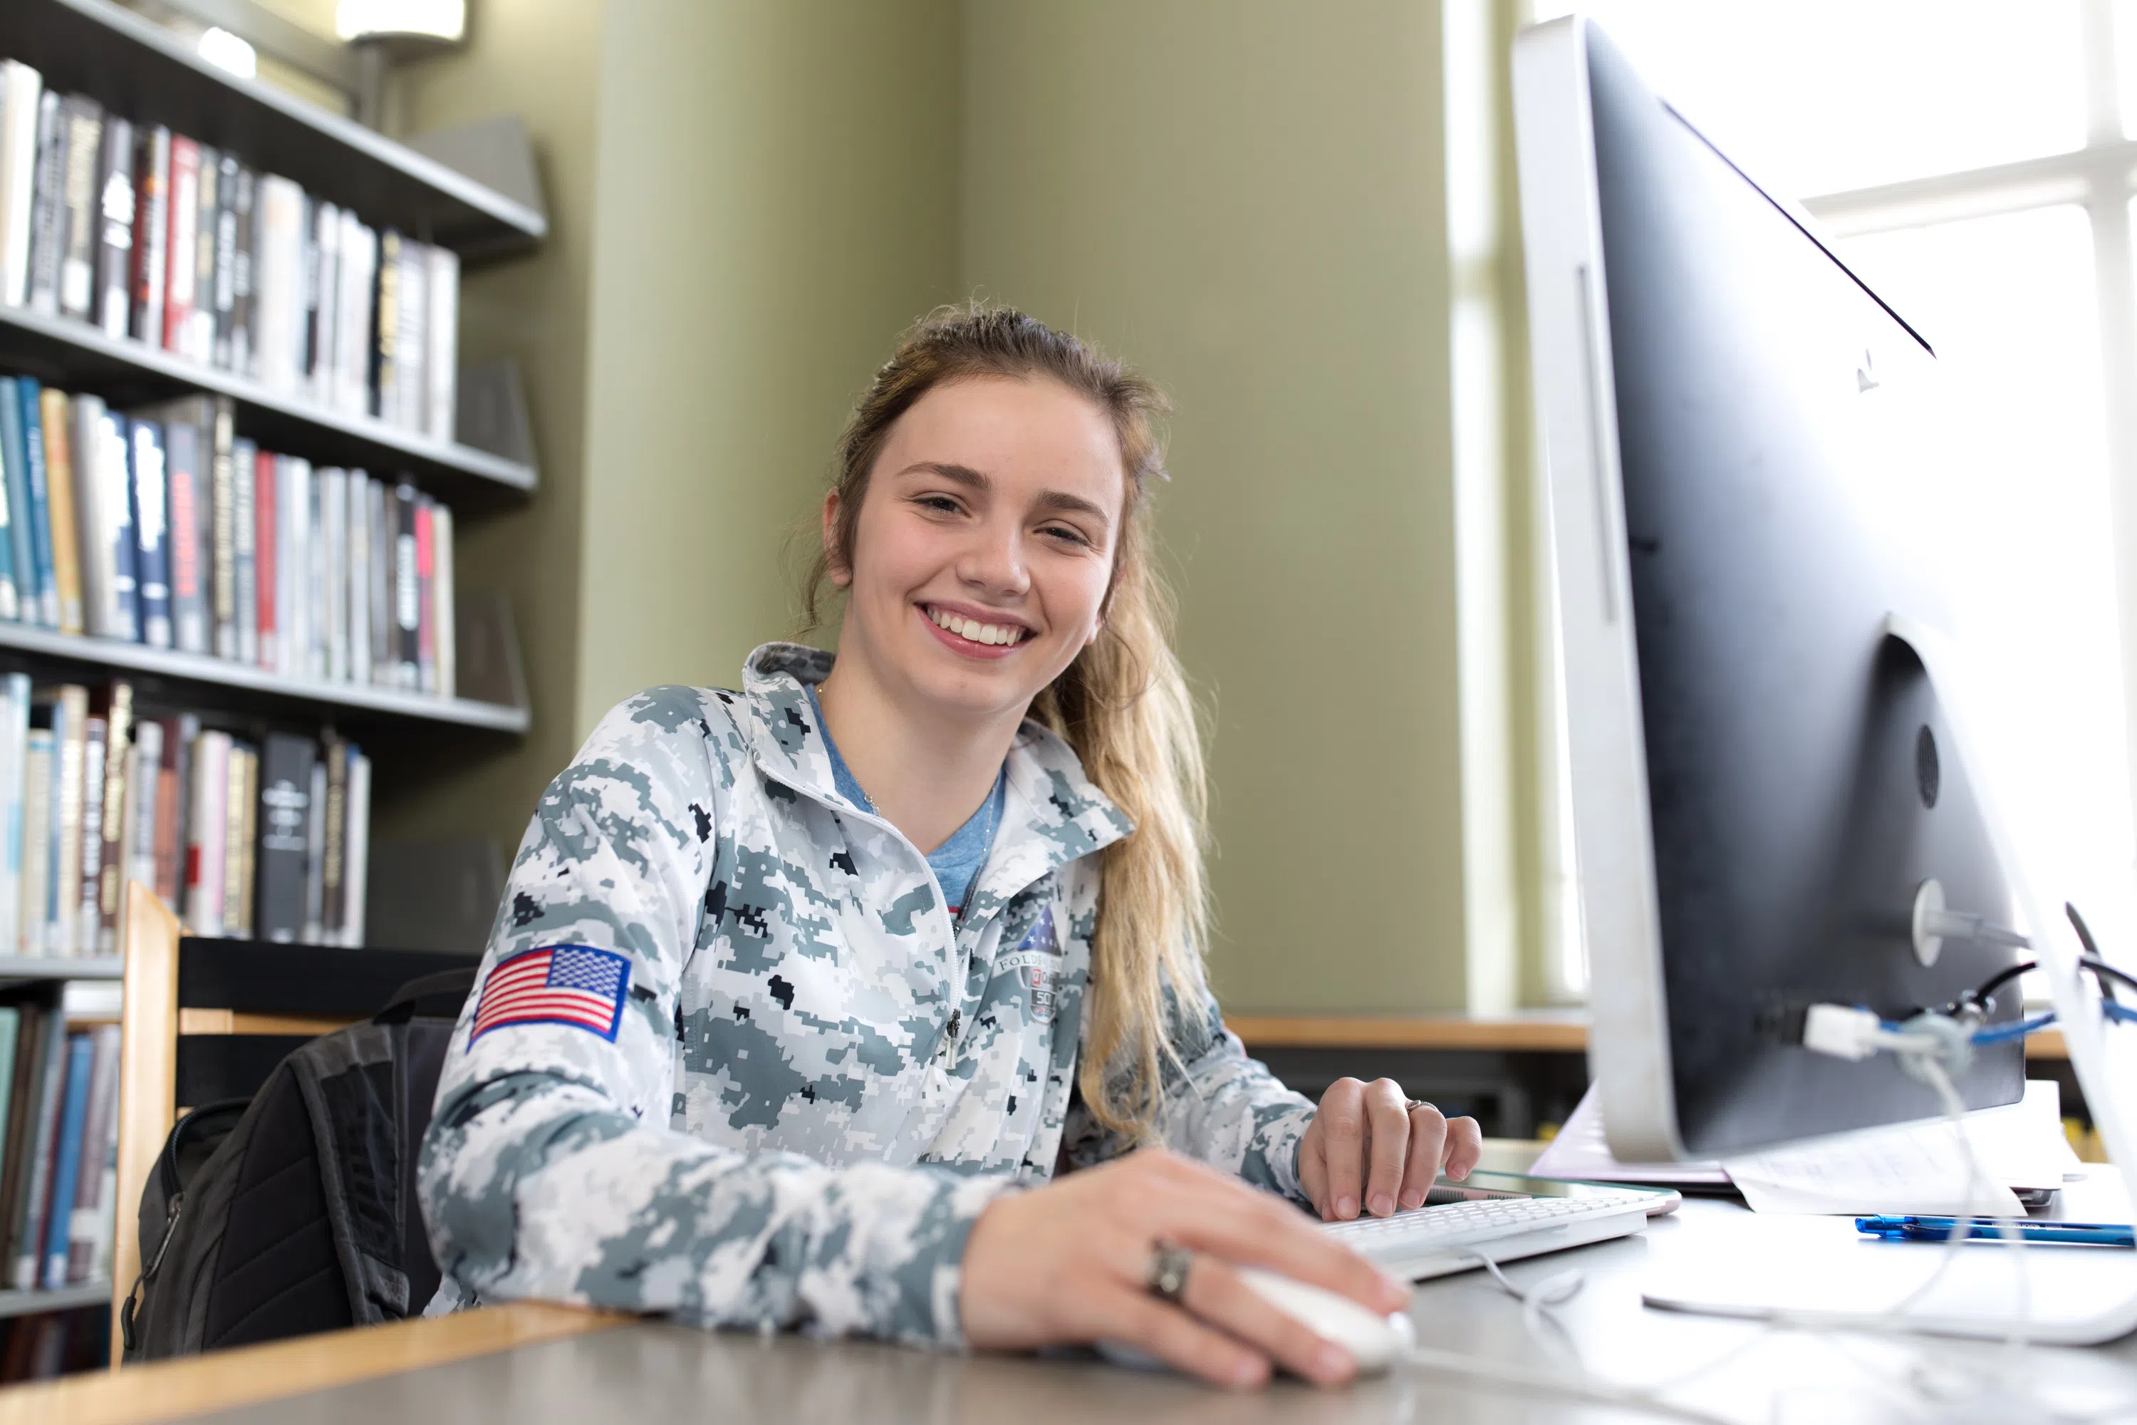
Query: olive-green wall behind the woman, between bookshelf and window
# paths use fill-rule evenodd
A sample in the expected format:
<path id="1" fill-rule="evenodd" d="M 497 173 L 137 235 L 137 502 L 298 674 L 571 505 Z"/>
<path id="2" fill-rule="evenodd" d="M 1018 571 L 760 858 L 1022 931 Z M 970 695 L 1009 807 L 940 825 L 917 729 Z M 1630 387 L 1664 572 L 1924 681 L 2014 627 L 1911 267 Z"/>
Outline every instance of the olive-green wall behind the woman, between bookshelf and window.
<path id="1" fill-rule="evenodd" d="M 1504 96 L 1442 83 L 1502 30 L 1496 0 L 489 0 L 402 105 L 517 109 L 543 147 L 556 237 L 470 278 L 464 331 L 530 363 L 545 485 L 462 579 L 513 594 L 536 733 L 389 833 L 511 844 L 615 699 L 782 637 L 851 400 L 977 293 L 1177 404 L 1227 1006 L 1534 993 L 1519 350 L 1453 335 L 1519 291 L 1509 156 L 1464 128 Z"/>

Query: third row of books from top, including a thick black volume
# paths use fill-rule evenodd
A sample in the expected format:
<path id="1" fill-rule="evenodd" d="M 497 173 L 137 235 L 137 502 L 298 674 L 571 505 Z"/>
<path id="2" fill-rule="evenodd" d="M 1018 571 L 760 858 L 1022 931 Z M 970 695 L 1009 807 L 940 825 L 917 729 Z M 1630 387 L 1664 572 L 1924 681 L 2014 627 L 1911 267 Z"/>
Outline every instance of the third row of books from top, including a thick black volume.
<path id="1" fill-rule="evenodd" d="M 263 737 L 0 677 L 0 955 L 115 955 L 128 880 L 194 936 L 363 944 L 372 763 L 331 729 Z"/>

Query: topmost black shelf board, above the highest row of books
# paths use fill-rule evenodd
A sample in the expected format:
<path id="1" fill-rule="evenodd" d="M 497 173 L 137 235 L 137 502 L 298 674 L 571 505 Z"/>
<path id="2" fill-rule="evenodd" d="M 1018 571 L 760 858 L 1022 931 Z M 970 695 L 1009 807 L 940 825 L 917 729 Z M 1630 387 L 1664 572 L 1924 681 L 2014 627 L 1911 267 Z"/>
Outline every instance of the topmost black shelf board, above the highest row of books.
<path id="1" fill-rule="evenodd" d="M 549 233 L 524 203 L 338 113 L 224 73 L 109 0 L 6 0 L 0 56 L 41 71 L 60 92 L 231 150 L 372 226 L 397 226 L 462 261 L 513 256 Z"/>

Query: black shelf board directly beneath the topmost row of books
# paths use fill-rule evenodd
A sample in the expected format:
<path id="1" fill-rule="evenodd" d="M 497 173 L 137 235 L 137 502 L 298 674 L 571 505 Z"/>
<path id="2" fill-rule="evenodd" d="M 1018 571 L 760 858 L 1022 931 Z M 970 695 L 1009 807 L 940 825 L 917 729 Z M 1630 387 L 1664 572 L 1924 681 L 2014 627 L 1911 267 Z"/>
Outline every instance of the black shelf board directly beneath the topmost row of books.
<path id="1" fill-rule="evenodd" d="M 0 13 L 4 9 L 0 4 Z M 28 308 L 0 308 L 0 367 L 64 391 L 92 391 L 118 408 L 190 391 L 229 395 L 237 406 L 237 432 L 259 440 L 261 449 L 303 455 L 314 466 L 361 466 L 378 479 L 412 474 L 451 504 L 455 515 L 462 508 L 479 513 L 500 502 L 524 502 L 539 479 L 534 466 L 432 440 L 374 417 L 350 417 L 308 400 L 276 395 L 233 372 Z"/>

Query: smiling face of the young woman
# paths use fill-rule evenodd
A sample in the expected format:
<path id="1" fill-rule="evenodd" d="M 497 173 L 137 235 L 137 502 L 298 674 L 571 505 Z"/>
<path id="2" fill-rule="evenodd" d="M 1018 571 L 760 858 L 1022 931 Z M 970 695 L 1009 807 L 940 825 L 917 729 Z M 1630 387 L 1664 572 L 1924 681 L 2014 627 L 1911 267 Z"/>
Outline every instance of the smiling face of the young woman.
<path id="1" fill-rule="evenodd" d="M 919 397 L 861 496 L 840 667 L 955 718 L 1021 716 L 1098 637 L 1126 476 L 1107 414 L 1060 382 L 981 376 Z M 836 547 L 838 496 L 825 498 Z"/>

